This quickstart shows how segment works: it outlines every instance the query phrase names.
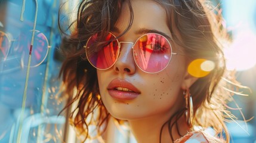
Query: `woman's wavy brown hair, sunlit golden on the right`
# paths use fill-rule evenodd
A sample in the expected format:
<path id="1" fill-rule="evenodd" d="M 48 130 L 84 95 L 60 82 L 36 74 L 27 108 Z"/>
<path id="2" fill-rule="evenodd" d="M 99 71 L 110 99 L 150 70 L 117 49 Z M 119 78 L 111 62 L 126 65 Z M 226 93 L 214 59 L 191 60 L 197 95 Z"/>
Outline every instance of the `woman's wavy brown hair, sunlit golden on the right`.
<path id="1" fill-rule="evenodd" d="M 124 35 L 132 25 L 131 2 L 126 1 L 131 19 L 127 29 L 119 36 Z M 194 105 L 193 126 L 211 127 L 217 133 L 222 132 L 223 129 L 227 131 L 224 120 L 226 116 L 231 116 L 226 111 L 225 105 L 232 94 L 223 86 L 231 90 L 233 86 L 221 80 L 226 77 L 232 80 L 232 76 L 225 72 L 226 65 L 222 49 L 227 35 L 218 8 L 212 7 L 209 1 L 201 0 L 154 1 L 165 8 L 172 42 L 184 48 L 188 63 L 199 58 L 215 63 L 211 73 L 199 78 L 190 87 Z M 61 51 L 66 58 L 63 61 L 60 76 L 63 79 L 64 92 L 71 99 L 66 108 L 76 105 L 70 114 L 70 123 L 75 126 L 79 135 L 85 135 L 84 139 L 91 138 L 88 128 L 90 125 L 95 125 L 98 135 L 101 135 L 110 117 L 100 98 L 96 69 L 88 62 L 84 45 L 94 33 L 110 32 L 113 29 L 123 3 L 122 0 L 82 1 L 79 4 L 77 19 L 72 23 L 75 30 L 64 39 L 61 46 Z M 74 94 L 75 97 L 73 97 Z M 170 117 L 168 122 L 178 120 L 176 116 L 184 113 L 184 110 L 181 111 Z M 229 142 L 228 133 L 226 135 Z"/>

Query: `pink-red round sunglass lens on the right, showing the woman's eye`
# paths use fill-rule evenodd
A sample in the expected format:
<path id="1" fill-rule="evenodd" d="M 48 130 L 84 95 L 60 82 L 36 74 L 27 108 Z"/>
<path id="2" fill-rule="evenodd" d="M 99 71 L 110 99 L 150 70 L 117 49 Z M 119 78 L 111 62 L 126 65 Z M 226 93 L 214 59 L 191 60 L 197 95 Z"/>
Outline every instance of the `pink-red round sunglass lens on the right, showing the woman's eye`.
<path id="1" fill-rule="evenodd" d="M 141 36 L 134 45 L 135 63 L 147 73 L 158 73 L 164 70 L 171 60 L 171 53 L 168 40 L 156 33 Z"/>

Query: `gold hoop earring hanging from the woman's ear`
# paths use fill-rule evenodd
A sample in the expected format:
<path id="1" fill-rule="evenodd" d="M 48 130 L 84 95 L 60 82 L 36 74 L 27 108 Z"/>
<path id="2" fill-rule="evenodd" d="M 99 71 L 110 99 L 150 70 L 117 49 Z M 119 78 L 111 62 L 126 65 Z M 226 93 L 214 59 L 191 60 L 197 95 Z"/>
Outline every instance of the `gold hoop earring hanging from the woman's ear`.
<path id="1" fill-rule="evenodd" d="M 186 100 L 186 109 L 187 109 L 185 111 L 186 122 L 187 122 L 187 125 L 189 125 L 189 127 L 192 127 L 194 111 L 193 111 L 193 100 L 189 92 L 189 89 L 187 91 L 184 91 L 183 95 Z"/>

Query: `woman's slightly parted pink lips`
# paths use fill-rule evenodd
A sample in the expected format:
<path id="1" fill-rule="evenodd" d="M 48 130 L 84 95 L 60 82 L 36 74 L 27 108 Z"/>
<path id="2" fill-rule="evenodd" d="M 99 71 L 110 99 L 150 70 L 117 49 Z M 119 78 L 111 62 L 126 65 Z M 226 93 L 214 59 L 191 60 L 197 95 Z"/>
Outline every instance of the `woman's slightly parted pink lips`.
<path id="1" fill-rule="evenodd" d="M 109 95 L 116 100 L 133 100 L 140 95 L 134 85 L 124 79 L 114 79 L 107 86 Z"/>

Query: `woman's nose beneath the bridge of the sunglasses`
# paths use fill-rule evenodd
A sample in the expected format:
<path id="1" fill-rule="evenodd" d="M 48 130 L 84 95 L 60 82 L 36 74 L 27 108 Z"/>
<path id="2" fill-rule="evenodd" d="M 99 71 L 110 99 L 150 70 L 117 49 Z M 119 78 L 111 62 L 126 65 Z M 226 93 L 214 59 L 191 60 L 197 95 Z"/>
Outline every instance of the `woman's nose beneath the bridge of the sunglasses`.
<path id="1" fill-rule="evenodd" d="M 120 53 L 114 64 L 114 70 L 118 73 L 134 74 L 136 66 L 132 55 L 133 43 L 120 42 L 120 46 Z"/>

